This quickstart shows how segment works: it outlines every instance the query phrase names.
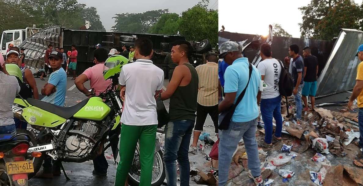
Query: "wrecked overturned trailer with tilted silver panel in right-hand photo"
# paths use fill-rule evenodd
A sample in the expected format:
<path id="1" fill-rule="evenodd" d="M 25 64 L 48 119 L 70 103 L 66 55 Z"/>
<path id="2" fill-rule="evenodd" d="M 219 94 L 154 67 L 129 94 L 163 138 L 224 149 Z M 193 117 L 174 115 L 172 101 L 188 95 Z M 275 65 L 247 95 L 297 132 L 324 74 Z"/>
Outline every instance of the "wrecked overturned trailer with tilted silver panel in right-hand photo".
<path id="1" fill-rule="evenodd" d="M 256 61 L 256 55 L 262 43 L 267 38 L 256 40 L 256 35 L 239 34 L 231 32 L 219 32 L 219 45 L 225 41 L 245 41 L 251 45 L 244 48 L 244 54 L 252 62 Z M 246 42 L 248 43 L 248 42 Z M 359 64 L 355 57 L 357 48 L 363 44 L 363 32 L 354 29 L 341 29 L 337 40 L 315 40 L 306 38 L 273 37 L 271 44 L 272 57 L 284 62 L 288 56 L 289 46 L 297 44 L 302 49 L 309 46 L 311 54 L 318 58 L 318 89 L 316 97 L 323 97 L 351 90 L 355 84 L 356 67 Z"/>

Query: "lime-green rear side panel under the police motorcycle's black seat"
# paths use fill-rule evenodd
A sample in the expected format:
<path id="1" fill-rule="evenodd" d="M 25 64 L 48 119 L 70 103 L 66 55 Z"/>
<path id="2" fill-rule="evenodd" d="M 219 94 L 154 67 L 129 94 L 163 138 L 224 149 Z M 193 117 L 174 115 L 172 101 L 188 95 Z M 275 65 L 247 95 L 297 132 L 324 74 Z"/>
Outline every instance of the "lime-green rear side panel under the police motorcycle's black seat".
<path id="1" fill-rule="evenodd" d="M 24 108 L 21 116 L 29 124 L 41 127 L 56 127 L 66 121 L 63 117 L 34 106 Z"/>

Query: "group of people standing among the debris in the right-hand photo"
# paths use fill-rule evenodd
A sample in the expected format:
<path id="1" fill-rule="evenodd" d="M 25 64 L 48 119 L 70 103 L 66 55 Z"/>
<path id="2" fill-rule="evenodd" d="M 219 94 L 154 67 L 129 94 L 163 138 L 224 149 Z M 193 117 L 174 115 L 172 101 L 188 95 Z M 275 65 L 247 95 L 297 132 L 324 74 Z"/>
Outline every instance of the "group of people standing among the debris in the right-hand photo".
<path id="1" fill-rule="evenodd" d="M 301 120 L 303 111 L 309 111 L 307 97 L 310 97 L 311 107 L 314 109 L 315 94 L 317 91 L 318 60 L 311 55 L 311 49 L 305 47 L 302 50 L 303 56 L 299 55 L 299 47 L 296 44 L 289 46 L 290 57 L 285 58 L 289 66 L 289 73 L 294 82 L 293 95 L 296 104 L 296 113 L 293 120 Z M 243 139 L 248 156 L 249 177 L 257 186 L 263 183 L 258 158 L 258 147 L 270 148 L 272 141 L 281 140 L 282 116 L 281 116 L 281 95 L 279 91 L 280 74 L 284 65 L 277 59 L 272 58 L 271 46 L 262 44 L 260 47 L 261 62 L 257 67 L 250 65 L 248 58 L 242 55 L 241 46 L 234 41 L 224 42 L 220 46 L 219 78 L 224 90 L 224 99 L 218 106 L 218 112 L 227 111 L 233 104 L 237 104 L 233 112 L 232 120 L 228 129 L 219 133 L 219 185 L 224 186 L 228 181 L 228 173 L 233 152 L 238 142 Z M 363 45 L 357 50 L 360 61 L 363 61 Z M 353 101 L 358 97 L 359 126 L 363 131 L 363 70 L 358 65 L 357 83 L 348 103 L 352 106 Z M 251 68 L 252 66 L 252 68 Z M 265 86 L 264 86 L 265 85 Z M 236 103 L 239 96 L 242 100 Z M 304 103 L 302 109 L 301 99 Z M 264 122 L 265 139 L 257 143 L 257 117 L 261 111 Z M 276 121 L 276 128 L 273 131 L 272 120 Z M 363 132 L 360 132 L 360 141 L 363 141 Z M 363 145 L 360 143 L 360 146 Z M 363 160 L 354 162 L 363 165 Z"/>

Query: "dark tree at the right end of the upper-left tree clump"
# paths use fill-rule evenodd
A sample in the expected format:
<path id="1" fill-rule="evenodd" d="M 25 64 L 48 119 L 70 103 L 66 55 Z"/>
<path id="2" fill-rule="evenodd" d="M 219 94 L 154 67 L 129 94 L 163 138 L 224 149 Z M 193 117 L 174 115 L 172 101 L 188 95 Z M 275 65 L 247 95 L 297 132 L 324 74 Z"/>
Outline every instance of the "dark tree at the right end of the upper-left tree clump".
<path id="1" fill-rule="evenodd" d="M 86 8 L 85 4 L 81 4 L 82 7 L 82 15 L 83 19 L 90 22 L 91 28 L 90 30 L 99 30 L 106 32 L 105 27 L 102 25 L 102 22 L 97 14 L 97 8 L 89 7 Z"/>

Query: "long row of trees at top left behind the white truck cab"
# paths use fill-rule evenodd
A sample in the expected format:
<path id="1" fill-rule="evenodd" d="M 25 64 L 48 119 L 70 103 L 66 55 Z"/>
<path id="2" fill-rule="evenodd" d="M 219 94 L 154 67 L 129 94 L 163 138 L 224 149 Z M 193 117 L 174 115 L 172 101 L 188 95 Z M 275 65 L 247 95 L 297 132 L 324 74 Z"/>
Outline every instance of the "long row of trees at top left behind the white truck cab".
<path id="1" fill-rule="evenodd" d="M 77 0 L 0 0 L 0 30 L 62 25 L 79 29 L 90 21 L 91 30 L 102 30 L 97 9 Z"/>

